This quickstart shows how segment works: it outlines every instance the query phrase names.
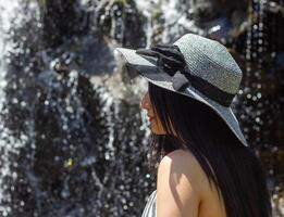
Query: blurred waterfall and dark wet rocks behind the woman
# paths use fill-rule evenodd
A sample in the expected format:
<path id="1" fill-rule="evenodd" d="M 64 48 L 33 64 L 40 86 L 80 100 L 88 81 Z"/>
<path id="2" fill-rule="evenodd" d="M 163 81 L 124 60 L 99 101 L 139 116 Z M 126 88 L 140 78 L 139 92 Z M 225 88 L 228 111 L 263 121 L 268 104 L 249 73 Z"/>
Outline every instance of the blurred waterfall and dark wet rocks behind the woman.
<path id="1" fill-rule="evenodd" d="M 284 216 L 283 0 L 0 0 L 0 216 L 140 216 L 156 189 L 147 84 L 114 48 L 186 33 L 240 65 L 233 107 Z"/>

